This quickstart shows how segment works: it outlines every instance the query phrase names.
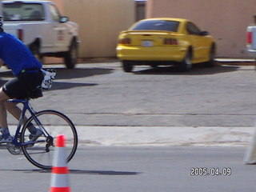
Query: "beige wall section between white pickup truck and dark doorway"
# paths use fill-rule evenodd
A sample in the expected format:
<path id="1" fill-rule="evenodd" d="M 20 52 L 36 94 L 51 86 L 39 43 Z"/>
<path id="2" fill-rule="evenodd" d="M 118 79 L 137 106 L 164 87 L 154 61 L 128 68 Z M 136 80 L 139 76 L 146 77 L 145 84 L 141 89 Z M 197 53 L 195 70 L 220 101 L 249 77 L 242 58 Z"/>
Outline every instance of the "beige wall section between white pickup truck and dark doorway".
<path id="1" fill-rule="evenodd" d="M 134 0 L 54 0 L 79 25 L 80 57 L 115 57 L 118 34 L 135 21 Z"/>

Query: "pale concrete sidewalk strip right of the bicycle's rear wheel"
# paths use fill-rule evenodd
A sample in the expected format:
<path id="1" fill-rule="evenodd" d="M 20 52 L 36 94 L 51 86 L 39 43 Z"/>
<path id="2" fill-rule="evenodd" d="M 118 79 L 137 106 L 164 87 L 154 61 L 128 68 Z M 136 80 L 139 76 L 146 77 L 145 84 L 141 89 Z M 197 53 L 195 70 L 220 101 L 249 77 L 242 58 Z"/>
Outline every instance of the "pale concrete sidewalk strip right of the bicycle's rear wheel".
<path id="1" fill-rule="evenodd" d="M 79 145 L 249 146 L 254 127 L 77 126 Z"/>

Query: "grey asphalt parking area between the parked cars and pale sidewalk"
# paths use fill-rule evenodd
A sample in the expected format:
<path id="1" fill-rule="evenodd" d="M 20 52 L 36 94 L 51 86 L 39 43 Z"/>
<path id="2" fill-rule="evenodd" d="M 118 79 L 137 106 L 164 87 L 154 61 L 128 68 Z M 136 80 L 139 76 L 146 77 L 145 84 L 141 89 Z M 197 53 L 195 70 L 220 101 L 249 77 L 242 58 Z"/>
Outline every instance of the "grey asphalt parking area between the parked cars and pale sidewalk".
<path id="1" fill-rule="evenodd" d="M 120 62 L 54 66 L 57 77 L 34 108 L 61 110 L 78 126 L 254 126 L 254 66 L 135 67 Z M 12 78 L 0 69 L 0 84 Z"/>

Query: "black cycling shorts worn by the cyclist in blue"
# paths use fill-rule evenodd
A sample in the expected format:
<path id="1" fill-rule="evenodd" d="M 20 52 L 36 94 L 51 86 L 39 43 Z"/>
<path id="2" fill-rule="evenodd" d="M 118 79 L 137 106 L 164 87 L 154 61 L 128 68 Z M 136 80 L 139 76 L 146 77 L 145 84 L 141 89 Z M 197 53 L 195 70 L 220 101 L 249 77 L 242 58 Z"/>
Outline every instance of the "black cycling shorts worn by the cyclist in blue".
<path id="1" fill-rule="evenodd" d="M 30 92 L 41 86 L 43 74 L 38 72 L 23 72 L 2 86 L 2 90 L 9 98 L 28 98 Z"/>

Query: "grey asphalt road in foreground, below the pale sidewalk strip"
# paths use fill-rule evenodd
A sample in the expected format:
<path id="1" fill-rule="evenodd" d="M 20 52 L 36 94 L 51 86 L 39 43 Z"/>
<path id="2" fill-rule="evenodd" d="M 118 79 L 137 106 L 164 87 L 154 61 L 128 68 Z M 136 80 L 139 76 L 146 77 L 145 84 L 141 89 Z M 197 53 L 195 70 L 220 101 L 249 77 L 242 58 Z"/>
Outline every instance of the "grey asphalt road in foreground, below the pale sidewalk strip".
<path id="1" fill-rule="evenodd" d="M 243 147 L 82 147 L 70 162 L 72 191 L 172 192 L 256 190 Z M 51 173 L 0 150 L 1 189 L 46 192 Z M 201 169 L 207 170 L 201 175 Z M 230 172 L 226 171 L 230 170 Z"/>

